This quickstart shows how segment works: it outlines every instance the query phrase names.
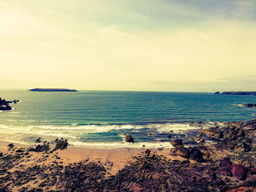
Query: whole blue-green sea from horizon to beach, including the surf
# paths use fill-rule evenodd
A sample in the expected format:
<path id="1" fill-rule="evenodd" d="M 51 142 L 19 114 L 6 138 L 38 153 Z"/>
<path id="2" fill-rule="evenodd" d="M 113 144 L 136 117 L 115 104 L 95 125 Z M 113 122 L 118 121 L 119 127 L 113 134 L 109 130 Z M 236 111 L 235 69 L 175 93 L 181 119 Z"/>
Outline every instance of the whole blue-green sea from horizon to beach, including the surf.
<path id="1" fill-rule="evenodd" d="M 1 90 L 0 97 L 20 100 L 11 104 L 13 110 L 0 111 L 0 140 L 29 145 L 39 137 L 105 149 L 172 147 L 178 138 L 190 145 L 203 128 L 251 120 L 256 113 L 241 107 L 256 103 L 255 96 L 213 93 Z M 125 141 L 127 134 L 134 143 Z"/>

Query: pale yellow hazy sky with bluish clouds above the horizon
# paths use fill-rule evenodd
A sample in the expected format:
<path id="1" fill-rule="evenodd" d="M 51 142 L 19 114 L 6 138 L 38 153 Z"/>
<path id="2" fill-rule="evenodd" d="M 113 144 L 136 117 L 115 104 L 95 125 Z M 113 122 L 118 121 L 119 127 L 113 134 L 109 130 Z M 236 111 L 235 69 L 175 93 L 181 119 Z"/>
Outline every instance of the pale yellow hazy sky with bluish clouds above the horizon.
<path id="1" fill-rule="evenodd" d="M 255 0 L 0 0 L 0 88 L 256 91 Z"/>

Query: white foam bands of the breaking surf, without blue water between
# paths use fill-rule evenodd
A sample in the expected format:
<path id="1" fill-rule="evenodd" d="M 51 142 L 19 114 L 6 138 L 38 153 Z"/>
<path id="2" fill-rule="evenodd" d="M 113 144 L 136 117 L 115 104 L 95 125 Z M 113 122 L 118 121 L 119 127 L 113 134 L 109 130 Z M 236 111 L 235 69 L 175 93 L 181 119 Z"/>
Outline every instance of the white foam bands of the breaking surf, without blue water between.
<path id="1" fill-rule="evenodd" d="M 214 123 L 208 122 L 206 124 L 189 124 L 189 123 L 149 123 L 143 125 L 88 125 L 88 126 L 9 126 L 9 125 L 0 125 L 0 140 L 6 140 L 12 142 L 23 142 L 30 144 L 34 142 L 34 138 L 42 137 L 45 140 L 54 140 L 58 138 L 69 139 L 69 143 L 75 146 L 86 146 L 86 147 L 102 147 L 102 148 L 111 148 L 111 147 L 172 147 L 170 142 L 157 142 L 157 138 L 154 137 L 155 142 L 135 142 L 134 144 L 124 141 L 125 134 L 123 133 L 136 133 L 144 131 L 144 134 L 148 132 L 157 132 L 158 134 L 170 133 L 173 131 L 173 134 L 186 134 L 189 130 L 196 130 L 201 128 L 206 128 L 208 126 L 215 125 Z M 143 130 L 141 130 L 144 128 Z M 121 137 L 123 141 L 121 142 L 105 142 L 108 141 L 108 138 L 103 135 L 97 136 L 99 139 L 102 137 L 102 141 L 86 141 L 87 135 L 89 134 L 99 134 L 109 131 L 116 131 L 118 136 Z M 123 132 L 124 131 L 124 132 Z M 33 138 L 32 140 L 28 138 Z M 82 139 L 82 140 L 81 140 Z M 93 138 L 92 138 L 93 139 Z M 118 138 L 116 138 L 118 139 Z M 83 141 L 84 140 L 84 141 Z"/>

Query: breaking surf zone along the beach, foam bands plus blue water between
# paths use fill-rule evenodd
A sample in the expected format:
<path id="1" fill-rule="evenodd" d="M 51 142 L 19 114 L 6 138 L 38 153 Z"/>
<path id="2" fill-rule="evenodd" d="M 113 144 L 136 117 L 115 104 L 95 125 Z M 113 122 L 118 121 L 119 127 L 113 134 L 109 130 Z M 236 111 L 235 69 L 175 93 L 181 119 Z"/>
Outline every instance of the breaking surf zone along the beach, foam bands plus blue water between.
<path id="1" fill-rule="evenodd" d="M 191 136 L 195 130 L 214 126 L 216 123 L 153 123 L 144 125 L 88 125 L 88 126 L 10 126 L 0 124 L 0 140 L 33 143 L 41 137 L 47 141 L 56 138 L 69 139 L 75 146 L 86 147 L 171 147 L 167 134 L 173 138 Z M 187 134 L 188 133 L 188 134 Z M 125 136 L 132 134 L 134 144 L 125 142 Z M 166 142 L 165 142 L 166 140 Z M 167 142 L 168 140 L 168 142 Z M 154 141 L 154 142 L 153 142 Z"/>

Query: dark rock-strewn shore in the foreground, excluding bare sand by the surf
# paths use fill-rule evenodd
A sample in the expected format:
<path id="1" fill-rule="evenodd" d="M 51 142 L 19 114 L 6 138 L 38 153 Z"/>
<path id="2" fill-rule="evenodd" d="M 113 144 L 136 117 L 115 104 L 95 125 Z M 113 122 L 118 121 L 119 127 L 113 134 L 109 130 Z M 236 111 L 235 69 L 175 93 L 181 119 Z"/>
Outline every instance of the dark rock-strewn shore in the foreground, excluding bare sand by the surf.
<path id="1" fill-rule="evenodd" d="M 176 139 L 172 149 L 143 149 L 118 172 L 103 153 L 67 161 L 65 139 L 10 144 L 0 147 L 0 191 L 256 191 L 256 120 L 202 129 L 197 137 L 197 146 Z"/>

